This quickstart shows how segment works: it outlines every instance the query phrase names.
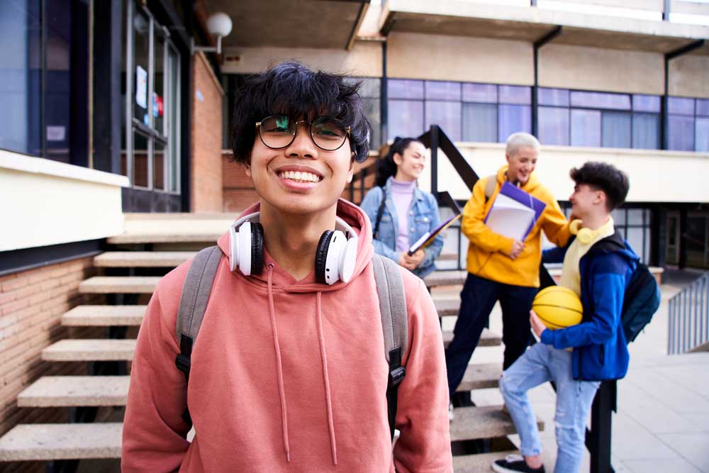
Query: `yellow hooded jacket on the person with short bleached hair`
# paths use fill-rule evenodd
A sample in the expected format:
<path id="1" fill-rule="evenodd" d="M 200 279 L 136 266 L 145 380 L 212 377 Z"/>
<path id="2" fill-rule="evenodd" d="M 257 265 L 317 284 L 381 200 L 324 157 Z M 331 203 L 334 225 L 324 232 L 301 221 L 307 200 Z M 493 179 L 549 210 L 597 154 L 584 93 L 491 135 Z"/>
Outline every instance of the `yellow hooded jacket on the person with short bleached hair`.
<path id="1" fill-rule="evenodd" d="M 532 172 L 530 179 L 521 189 L 547 206 L 527 235 L 522 253 L 516 260 L 510 260 L 508 255 L 514 240 L 494 233 L 483 223 L 507 179 L 507 168 L 505 165 L 498 170 L 497 185 L 490 199 L 485 199 L 485 184 L 489 178 L 482 178 L 476 182 L 473 194 L 463 208 L 461 230 L 470 240 L 467 269 L 471 274 L 503 284 L 539 287 L 539 265 L 542 260 L 540 230 L 544 230 L 549 241 L 564 246 L 571 235 L 569 223 L 559 208 L 557 199 L 554 199 L 549 189 L 540 184 L 537 173 Z"/>

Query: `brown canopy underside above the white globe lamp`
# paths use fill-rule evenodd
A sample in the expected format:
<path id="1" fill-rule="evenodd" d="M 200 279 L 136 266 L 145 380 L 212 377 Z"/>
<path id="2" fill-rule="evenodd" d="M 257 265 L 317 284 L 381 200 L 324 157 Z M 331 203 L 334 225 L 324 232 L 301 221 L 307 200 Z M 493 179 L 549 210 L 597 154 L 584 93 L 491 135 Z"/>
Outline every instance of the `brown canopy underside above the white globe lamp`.
<path id="1" fill-rule="evenodd" d="M 208 0 L 209 11 L 230 16 L 224 47 L 352 47 L 369 0 Z"/>

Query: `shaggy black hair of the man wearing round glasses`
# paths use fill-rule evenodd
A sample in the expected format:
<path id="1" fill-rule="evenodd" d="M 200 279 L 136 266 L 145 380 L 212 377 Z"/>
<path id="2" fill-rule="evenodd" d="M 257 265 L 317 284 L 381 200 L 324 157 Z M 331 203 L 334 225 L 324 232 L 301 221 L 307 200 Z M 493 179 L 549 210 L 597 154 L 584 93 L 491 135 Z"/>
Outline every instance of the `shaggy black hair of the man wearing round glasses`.
<path id="1" fill-rule="evenodd" d="M 328 116 L 350 127 L 350 149 L 362 162 L 369 155 L 369 121 L 359 96 L 359 82 L 338 74 L 313 72 L 289 61 L 255 74 L 234 97 L 231 126 L 233 159 L 248 164 L 256 139 L 256 123 L 269 115 Z"/>

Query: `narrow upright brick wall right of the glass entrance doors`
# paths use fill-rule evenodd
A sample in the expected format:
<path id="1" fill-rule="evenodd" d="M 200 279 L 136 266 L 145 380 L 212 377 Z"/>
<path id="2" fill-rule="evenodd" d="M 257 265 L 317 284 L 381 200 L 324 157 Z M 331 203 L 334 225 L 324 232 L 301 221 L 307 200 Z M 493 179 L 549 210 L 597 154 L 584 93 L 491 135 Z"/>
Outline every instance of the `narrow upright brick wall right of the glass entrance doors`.
<path id="1" fill-rule="evenodd" d="M 222 103 L 224 91 L 203 52 L 193 56 L 191 211 L 220 212 L 222 193 Z"/>

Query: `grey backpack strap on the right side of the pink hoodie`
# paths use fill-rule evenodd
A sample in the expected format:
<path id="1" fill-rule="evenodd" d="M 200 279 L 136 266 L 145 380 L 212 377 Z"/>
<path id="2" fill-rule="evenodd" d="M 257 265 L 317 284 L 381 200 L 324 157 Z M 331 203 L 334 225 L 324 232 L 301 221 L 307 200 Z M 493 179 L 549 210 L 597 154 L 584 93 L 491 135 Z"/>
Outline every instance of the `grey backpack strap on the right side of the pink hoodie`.
<path id="1" fill-rule="evenodd" d="M 408 343 L 408 315 L 406 293 L 398 265 L 389 258 L 372 256 L 376 292 L 379 294 L 381 328 L 384 333 L 384 355 L 389 362 L 389 380 L 386 384 L 386 406 L 389 414 L 389 432 L 394 435 L 398 385 L 406 376 L 401 357 Z"/>

